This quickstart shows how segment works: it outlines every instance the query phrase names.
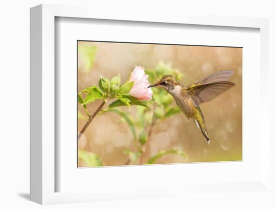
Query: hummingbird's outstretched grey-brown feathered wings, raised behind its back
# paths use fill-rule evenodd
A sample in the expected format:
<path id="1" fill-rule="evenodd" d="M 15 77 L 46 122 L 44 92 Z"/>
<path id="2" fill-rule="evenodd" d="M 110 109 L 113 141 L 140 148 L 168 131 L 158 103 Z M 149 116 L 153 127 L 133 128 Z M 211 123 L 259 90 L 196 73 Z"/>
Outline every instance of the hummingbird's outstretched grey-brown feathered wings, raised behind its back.
<path id="1" fill-rule="evenodd" d="M 220 71 L 187 86 L 186 90 L 191 94 L 195 106 L 198 107 L 201 103 L 212 100 L 234 86 L 234 83 L 227 81 L 232 75 L 233 71 Z"/>

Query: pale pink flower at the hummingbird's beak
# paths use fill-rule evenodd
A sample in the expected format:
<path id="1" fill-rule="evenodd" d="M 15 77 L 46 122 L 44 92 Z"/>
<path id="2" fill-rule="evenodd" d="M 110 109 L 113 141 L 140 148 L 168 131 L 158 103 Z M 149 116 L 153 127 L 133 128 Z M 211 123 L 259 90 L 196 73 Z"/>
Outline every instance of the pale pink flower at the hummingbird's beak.
<path id="1" fill-rule="evenodd" d="M 148 88 L 150 82 L 148 81 L 149 75 L 145 74 L 145 69 L 136 66 L 130 75 L 129 81 L 134 81 L 134 84 L 129 91 L 129 95 L 136 97 L 139 100 L 150 100 L 153 96 L 153 90 Z"/>

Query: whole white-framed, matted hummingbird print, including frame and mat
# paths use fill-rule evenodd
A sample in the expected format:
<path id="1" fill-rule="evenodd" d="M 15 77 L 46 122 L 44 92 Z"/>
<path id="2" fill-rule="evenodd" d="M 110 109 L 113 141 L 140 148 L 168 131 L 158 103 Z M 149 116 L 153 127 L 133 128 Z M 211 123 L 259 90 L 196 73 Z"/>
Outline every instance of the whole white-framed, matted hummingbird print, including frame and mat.
<path id="1" fill-rule="evenodd" d="M 268 21 L 121 12 L 31 9 L 31 200 L 270 194 Z"/>

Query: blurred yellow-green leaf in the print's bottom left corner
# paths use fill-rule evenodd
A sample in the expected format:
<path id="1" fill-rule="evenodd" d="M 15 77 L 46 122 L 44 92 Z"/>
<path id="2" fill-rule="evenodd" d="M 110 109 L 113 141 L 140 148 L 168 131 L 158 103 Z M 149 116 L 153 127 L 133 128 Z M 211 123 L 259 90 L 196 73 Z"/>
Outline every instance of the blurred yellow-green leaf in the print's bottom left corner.
<path id="1" fill-rule="evenodd" d="M 82 160 L 87 167 L 103 166 L 101 158 L 93 152 L 78 150 L 78 158 Z"/>

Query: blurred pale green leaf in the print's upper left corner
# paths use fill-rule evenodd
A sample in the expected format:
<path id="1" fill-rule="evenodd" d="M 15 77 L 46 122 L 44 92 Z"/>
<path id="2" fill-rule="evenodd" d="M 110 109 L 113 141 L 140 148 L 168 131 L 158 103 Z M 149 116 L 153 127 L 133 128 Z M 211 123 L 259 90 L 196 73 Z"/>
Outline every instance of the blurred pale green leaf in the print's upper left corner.
<path id="1" fill-rule="evenodd" d="M 78 45 L 79 58 L 82 60 L 85 72 L 90 72 L 95 62 L 96 46 Z"/>

